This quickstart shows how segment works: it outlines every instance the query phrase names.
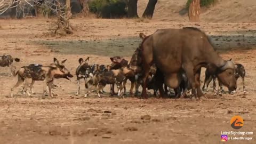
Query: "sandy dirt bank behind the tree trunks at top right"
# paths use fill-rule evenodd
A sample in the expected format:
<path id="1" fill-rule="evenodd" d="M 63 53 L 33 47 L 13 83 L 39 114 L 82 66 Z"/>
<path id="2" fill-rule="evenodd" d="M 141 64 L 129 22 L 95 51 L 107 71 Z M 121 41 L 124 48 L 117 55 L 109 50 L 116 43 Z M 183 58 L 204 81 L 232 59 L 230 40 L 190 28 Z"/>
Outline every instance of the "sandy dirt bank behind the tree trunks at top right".
<path id="1" fill-rule="evenodd" d="M 138 14 L 142 15 L 147 6 L 146 0 L 138 1 Z M 181 16 L 187 0 L 161 0 L 156 4 L 153 19 L 167 21 L 188 21 L 187 14 Z M 255 0 L 219 0 L 210 8 L 202 9 L 201 21 L 203 22 L 256 22 Z"/>

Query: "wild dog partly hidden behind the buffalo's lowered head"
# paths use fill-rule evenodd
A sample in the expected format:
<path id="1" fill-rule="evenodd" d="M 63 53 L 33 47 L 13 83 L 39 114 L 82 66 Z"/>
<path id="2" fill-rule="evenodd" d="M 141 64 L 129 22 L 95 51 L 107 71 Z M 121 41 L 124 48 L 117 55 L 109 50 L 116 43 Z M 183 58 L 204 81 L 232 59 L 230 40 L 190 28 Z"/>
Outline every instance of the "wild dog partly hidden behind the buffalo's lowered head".
<path id="1" fill-rule="evenodd" d="M 244 90 L 244 93 L 246 93 L 246 90 L 245 90 L 245 83 L 244 83 L 244 78 L 245 78 L 245 69 L 244 69 L 244 66 L 241 64 L 241 63 L 236 63 L 235 64 L 235 78 L 236 78 L 236 81 L 239 77 L 242 78 L 242 82 L 243 82 L 243 90 Z M 210 84 L 210 82 L 212 81 L 213 79 L 213 90 L 215 92 L 215 95 L 217 94 L 217 90 L 216 90 L 216 82 L 215 82 L 215 79 L 216 79 L 216 76 L 214 74 L 211 74 L 211 72 L 209 71 L 209 69 L 206 69 L 205 70 L 205 79 L 204 79 L 204 85 L 203 85 L 203 91 L 205 90 L 205 84 L 206 84 L 206 91 L 208 91 L 208 86 Z M 220 83 L 219 79 L 218 79 L 218 83 L 219 83 L 219 87 L 218 87 L 218 91 L 219 91 L 219 95 L 222 95 L 222 84 Z M 230 91 L 229 91 L 230 93 Z M 232 91 L 231 93 L 236 93 L 236 91 Z"/>

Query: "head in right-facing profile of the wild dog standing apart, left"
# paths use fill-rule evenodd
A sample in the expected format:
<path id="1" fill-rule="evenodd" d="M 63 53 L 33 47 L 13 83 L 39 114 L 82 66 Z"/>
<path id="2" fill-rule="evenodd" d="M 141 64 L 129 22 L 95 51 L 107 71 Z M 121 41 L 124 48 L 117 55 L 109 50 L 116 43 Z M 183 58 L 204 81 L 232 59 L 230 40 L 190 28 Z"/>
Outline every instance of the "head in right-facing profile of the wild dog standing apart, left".
<path id="1" fill-rule="evenodd" d="M 63 65 L 63 63 L 65 63 L 67 59 L 59 62 L 58 59 L 53 58 L 53 61 L 55 64 L 54 78 L 66 78 L 70 80 L 69 78 L 73 77 L 73 75 L 70 74 L 69 70 Z M 54 66 L 52 65 L 51 67 L 54 67 Z"/>

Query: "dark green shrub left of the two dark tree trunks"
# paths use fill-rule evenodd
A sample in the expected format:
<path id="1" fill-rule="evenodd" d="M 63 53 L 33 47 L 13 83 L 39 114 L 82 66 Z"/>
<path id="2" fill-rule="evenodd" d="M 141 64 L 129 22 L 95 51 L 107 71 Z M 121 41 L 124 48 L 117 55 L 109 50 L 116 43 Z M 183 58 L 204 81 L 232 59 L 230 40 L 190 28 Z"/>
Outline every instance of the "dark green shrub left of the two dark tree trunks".
<path id="1" fill-rule="evenodd" d="M 89 10 L 101 18 L 123 18 L 127 15 L 124 0 L 94 0 L 89 3 Z"/>

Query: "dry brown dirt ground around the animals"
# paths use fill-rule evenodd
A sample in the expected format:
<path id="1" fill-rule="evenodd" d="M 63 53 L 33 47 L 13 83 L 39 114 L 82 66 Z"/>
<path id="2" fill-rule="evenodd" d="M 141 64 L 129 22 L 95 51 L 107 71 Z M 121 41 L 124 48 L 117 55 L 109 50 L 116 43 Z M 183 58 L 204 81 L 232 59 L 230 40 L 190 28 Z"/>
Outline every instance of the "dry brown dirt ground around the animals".
<path id="1" fill-rule="evenodd" d="M 9 53 L 20 58 L 21 62 L 14 63 L 17 67 L 31 63 L 47 65 L 53 62 L 53 57 L 67 59 L 66 67 L 75 75 L 81 57 L 90 57 L 90 63 L 99 64 L 109 64 L 109 57 L 116 55 L 130 60 L 141 41 L 138 37 L 141 32 L 148 35 L 158 28 L 195 26 L 193 23 L 156 20 L 74 19 L 71 22 L 79 29 L 74 35 L 45 37 L 51 21 L 0 20 L 1 54 Z M 200 23 L 196 27 L 205 30 L 206 34 L 218 33 L 220 37 L 230 31 L 234 36 L 234 31 L 256 30 L 254 23 Z M 251 35 L 240 42 L 255 41 Z M 225 45 L 226 41 L 217 43 Z M 109 98 L 108 85 L 103 98 L 97 98 L 96 94 L 83 98 L 83 81 L 81 95 L 75 96 L 75 77 L 71 82 L 66 79 L 55 81 L 60 86 L 54 90 L 58 94 L 55 99 L 37 99 L 43 91 L 42 82 L 35 83 L 33 98 L 22 95 L 21 87 L 14 92 L 16 98 L 7 98 L 17 77 L 9 77 L 9 69 L 1 67 L 0 143 L 221 143 L 221 131 L 234 130 L 230 119 L 235 115 L 244 118 L 240 130 L 253 131 L 253 140 L 230 140 L 227 143 L 255 143 L 255 54 L 254 49 L 221 53 L 224 59 L 233 58 L 245 66 L 246 95 L 239 79 L 237 94 L 214 97 L 210 88 L 206 94 L 210 99 L 200 101 Z M 129 90 L 130 83 L 127 87 Z"/>

